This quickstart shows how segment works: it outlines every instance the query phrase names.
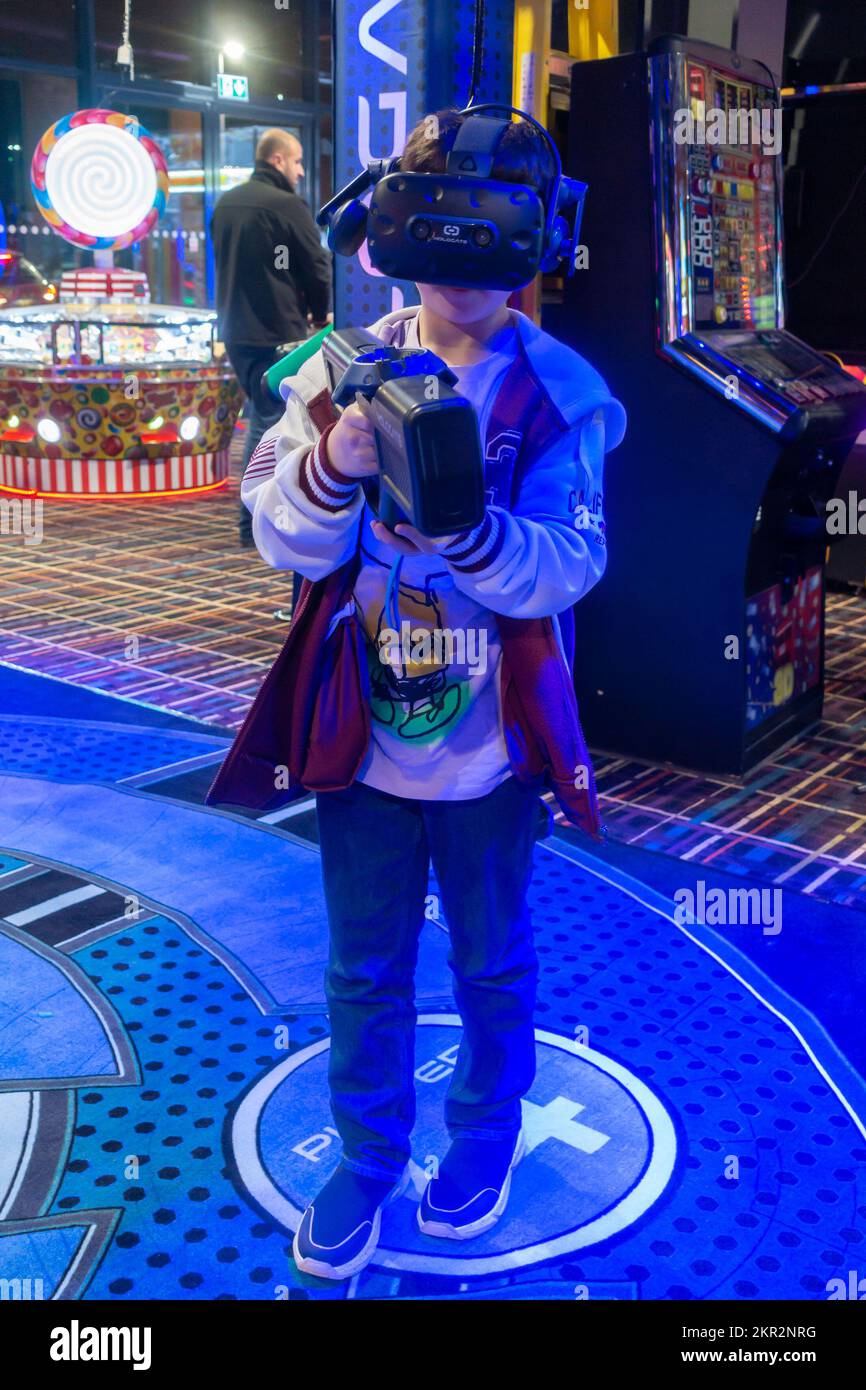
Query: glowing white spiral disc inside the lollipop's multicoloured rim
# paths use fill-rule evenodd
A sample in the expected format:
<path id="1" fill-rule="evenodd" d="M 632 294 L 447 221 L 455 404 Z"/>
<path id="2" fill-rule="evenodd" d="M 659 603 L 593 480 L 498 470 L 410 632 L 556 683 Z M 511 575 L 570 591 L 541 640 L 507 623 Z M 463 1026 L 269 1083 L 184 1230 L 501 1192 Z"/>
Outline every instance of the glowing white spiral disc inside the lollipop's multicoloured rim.
<path id="1" fill-rule="evenodd" d="M 157 175 L 150 154 L 117 125 L 79 125 L 61 135 L 44 171 L 58 217 L 88 236 L 122 236 L 153 207 Z"/>

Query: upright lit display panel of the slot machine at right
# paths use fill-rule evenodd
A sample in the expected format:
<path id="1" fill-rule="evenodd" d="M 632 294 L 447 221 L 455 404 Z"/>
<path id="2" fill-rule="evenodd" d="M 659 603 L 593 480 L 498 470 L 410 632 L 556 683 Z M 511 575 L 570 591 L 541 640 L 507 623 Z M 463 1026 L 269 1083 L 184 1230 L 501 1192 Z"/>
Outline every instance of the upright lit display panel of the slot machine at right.
<path id="1" fill-rule="evenodd" d="M 685 58 L 692 129 L 687 145 L 692 331 L 773 328 L 776 171 L 767 149 L 774 93 Z M 763 142 L 762 142 L 763 131 Z"/>

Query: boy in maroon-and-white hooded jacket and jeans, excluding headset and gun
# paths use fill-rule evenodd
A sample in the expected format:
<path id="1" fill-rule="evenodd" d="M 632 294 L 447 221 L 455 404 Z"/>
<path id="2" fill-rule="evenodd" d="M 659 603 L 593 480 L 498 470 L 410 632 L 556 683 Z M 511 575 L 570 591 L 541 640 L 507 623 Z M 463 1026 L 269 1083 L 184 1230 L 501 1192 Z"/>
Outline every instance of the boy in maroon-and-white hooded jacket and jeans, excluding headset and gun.
<path id="1" fill-rule="evenodd" d="M 538 190 L 544 252 L 555 261 L 560 179 L 546 135 L 509 117 L 480 140 L 471 129 L 460 136 L 480 120 L 445 111 L 420 122 L 399 172 L 435 181 L 456 156 L 466 164 L 467 147 L 487 188 L 513 186 L 514 206 Z M 485 139 L 487 164 L 471 154 Z M 450 1147 L 417 1220 L 428 1236 L 464 1240 L 499 1219 L 524 1151 L 539 791 L 550 788 L 569 820 L 601 833 L 570 673 L 570 610 L 605 569 L 603 455 L 626 417 L 584 359 L 507 307 L 513 284 L 481 288 L 471 277 L 487 279 L 470 267 L 461 286 L 418 284 L 420 310 L 396 310 L 371 331 L 431 349 L 474 404 L 487 489 L 478 527 L 431 539 L 375 518 L 360 486 L 378 470 L 373 427 L 360 398 L 335 420 L 321 352 L 291 379 L 285 416 L 242 488 L 263 557 L 306 582 L 209 801 L 265 805 L 263 767 L 284 762 L 317 791 L 329 1087 L 343 1152 L 293 1250 L 300 1269 L 331 1279 L 373 1258 L 382 1208 L 410 1180 L 414 966 L 431 860 L 463 1037 L 445 1101 Z M 418 638 L 436 632 L 450 641 Z"/>

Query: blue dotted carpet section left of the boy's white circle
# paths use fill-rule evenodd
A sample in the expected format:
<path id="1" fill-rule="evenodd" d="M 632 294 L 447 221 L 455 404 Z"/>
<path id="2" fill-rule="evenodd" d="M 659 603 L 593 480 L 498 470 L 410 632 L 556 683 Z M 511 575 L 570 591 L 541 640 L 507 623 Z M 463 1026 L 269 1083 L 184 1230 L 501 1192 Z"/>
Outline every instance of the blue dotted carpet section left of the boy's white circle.
<path id="1" fill-rule="evenodd" d="M 164 917 L 79 963 L 121 1013 L 143 1083 L 125 1104 L 99 1090 L 78 1097 L 54 1209 L 111 1201 L 122 1212 L 88 1297 L 274 1298 L 291 1243 L 239 1200 L 222 1131 L 229 1099 L 274 1063 L 275 1024 L 295 1019 L 263 1020 L 220 962 Z M 324 1020 L 304 1020 L 306 1040 L 325 1033 Z"/>

